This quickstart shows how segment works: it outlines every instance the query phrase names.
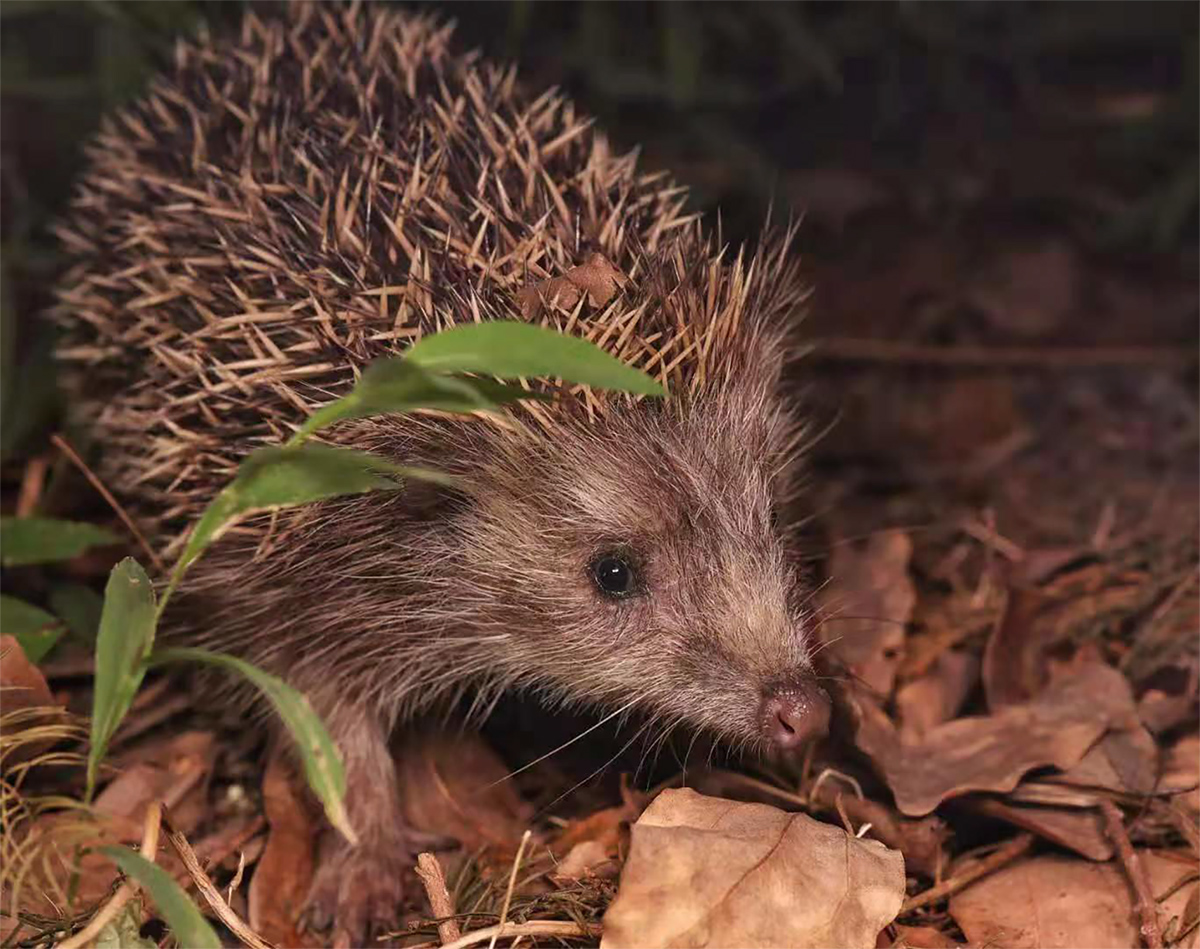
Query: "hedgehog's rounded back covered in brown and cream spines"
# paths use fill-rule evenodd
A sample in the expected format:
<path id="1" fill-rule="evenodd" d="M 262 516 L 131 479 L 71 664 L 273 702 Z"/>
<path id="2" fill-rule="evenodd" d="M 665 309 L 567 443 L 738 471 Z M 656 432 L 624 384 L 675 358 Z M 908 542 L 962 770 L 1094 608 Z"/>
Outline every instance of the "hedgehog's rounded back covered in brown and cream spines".
<path id="1" fill-rule="evenodd" d="M 587 252 L 632 280 L 571 330 L 673 388 L 704 377 L 755 274 L 712 259 L 682 188 L 427 17 L 287 10 L 181 44 L 106 122 L 60 229 L 62 356 L 143 516 L 181 523 L 366 361 L 520 318 L 516 290 Z"/>

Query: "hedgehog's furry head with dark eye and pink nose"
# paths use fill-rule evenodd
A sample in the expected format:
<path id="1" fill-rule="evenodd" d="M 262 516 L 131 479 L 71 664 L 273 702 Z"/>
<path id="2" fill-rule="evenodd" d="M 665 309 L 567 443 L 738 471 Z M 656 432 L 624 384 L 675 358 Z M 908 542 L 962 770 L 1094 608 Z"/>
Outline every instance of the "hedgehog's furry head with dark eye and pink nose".
<path id="1" fill-rule="evenodd" d="M 776 401 L 643 403 L 481 463 L 456 594 L 491 672 L 564 701 L 790 749 L 826 729 L 805 594 L 778 524 Z"/>

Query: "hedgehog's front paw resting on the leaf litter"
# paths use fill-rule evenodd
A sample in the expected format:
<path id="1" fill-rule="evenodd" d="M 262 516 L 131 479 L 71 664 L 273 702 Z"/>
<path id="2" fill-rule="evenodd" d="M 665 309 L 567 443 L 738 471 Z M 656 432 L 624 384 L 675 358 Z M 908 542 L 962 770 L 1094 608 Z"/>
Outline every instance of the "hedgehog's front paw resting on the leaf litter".
<path id="1" fill-rule="evenodd" d="M 368 945 L 373 936 L 396 929 L 413 865 L 412 848 L 396 843 L 342 843 L 323 859 L 308 891 L 305 927 L 331 929 L 335 947 Z"/>

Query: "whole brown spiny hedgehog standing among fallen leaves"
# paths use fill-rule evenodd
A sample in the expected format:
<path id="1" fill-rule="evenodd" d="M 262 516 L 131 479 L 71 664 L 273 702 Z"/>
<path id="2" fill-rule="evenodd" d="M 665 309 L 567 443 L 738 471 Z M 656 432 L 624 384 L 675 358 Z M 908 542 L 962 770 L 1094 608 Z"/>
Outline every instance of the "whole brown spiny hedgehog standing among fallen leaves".
<path id="1" fill-rule="evenodd" d="M 162 635 L 283 677 L 343 756 L 359 843 L 326 851 L 308 925 L 361 944 L 395 921 L 422 837 L 390 743 L 439 709 L 515 690 L 756 751 L 826 729 L 787 521 L 793 227 L 728 251 L 559 91 L 394 6 L 252 8 L 181 42 L 88 158 L 60 358 L 163 560 L 246 454 L 426 334 L 533 320 L 667 392 L 530 382 L 551 401 L 342 422 L 331 443 L 454 486 L 258 516 L 193 567 Z M 571 283 L 587 268 L 611 292 Z"/>

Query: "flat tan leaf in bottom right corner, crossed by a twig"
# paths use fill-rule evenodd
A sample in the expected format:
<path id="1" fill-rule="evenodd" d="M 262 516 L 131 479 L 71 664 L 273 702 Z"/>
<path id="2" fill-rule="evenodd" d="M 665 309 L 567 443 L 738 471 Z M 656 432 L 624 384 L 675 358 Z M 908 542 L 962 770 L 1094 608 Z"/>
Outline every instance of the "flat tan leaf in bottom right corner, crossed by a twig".
<path id="1" fill-rule="evenodd" d="M 1140 851 L 1156 894 L 1188 872 L 1187 865 Z M 1182 887 L 1159 908 L 1159 924 L 1182 915 L 1196 882 Z M 1139 919 L 1129 882 L 1116 863 L 1068 857 L 1034 857 L 1006 866 L 950 897 L 950 915 L 976 945 L 1010 949 L 1127 949 L 1139 945 Z M 1182 943 L 1196 945 L 1196 933 Z"/>

